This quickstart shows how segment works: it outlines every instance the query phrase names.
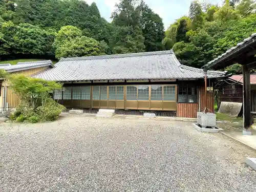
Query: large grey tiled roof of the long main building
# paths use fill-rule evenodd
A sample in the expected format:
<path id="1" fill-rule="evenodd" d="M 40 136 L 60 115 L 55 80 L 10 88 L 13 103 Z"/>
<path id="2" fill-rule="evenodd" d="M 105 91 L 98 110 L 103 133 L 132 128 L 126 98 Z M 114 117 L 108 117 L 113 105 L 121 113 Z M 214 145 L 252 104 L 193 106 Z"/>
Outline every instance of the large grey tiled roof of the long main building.
<path id="1" fill-rule="evenodd" d="M 208 78 L 225 76 L 225 72 L 208 71 Z M 203 78 L 202 69 L 181 65 L 172 50 L 62 58 L 55 68 L 35 75 L 54 81 L 182 79 Z"/>

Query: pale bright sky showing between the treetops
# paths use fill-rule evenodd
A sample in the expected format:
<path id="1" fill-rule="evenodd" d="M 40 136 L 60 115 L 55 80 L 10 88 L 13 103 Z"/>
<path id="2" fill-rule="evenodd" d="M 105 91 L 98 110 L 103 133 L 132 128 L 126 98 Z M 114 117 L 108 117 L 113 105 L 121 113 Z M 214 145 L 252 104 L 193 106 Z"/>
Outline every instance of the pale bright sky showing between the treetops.
<path id="1" fill-rule="evenodd" d="M 91 5 L 92 2 L 97 4 L 102 17 L 109 22 L 111 21 L 111 12 L 115 10 L 115 4 L 119 0 L 84 0 Z M 167 29 L 170 24 L 175 22 L 179 17 L 186 15 L 189 10 L 190 2 L 193 0 L 144 0 L 144 2 L 153 11 L 160 15 L 163 19 L 164 27 Z M 208 2 L 211 4 L 223 3 L 223 0 L 199 0 L 200 2 Z"/>

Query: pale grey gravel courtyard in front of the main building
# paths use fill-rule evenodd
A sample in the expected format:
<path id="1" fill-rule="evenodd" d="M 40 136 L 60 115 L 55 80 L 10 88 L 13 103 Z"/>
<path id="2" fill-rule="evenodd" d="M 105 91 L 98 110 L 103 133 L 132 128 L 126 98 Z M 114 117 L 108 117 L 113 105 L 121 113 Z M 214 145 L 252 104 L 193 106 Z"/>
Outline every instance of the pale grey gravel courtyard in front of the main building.
<path id="1" fill-rule="evenodd" d="M 190 122 L 69 116 L 0 140 L 0 191 L 256 191 L 256 153 Z"/>

